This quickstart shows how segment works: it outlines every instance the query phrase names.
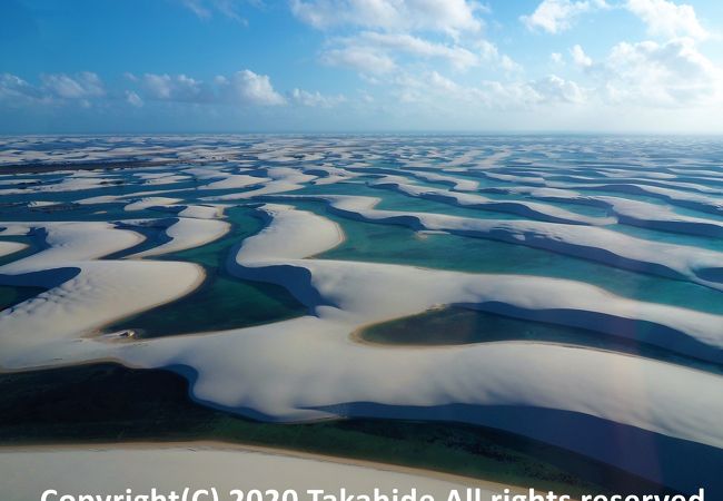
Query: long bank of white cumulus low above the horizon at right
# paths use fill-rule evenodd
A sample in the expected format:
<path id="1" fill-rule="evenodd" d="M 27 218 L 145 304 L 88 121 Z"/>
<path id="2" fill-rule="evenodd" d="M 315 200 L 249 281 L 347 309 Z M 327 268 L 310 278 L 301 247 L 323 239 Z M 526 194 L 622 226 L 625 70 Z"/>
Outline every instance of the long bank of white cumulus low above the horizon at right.
<path id="1" fill-rule="evenodd" d="M 398 102 L 460 112 L 463 109 L 534 109 L 565 105 L 580 110 L 617 109 L 634 105 L 650 109 L 704 109 L 723 104 L 723 68 L 699 51 L 690 38 L 667 42 L 620 42 L 600 60 L 581 46 L 571 50 L 581 79 L 557 75 L 511 78 L 462 85 L 438 71 L 408 72 L 389 80 Z M 562 55 L 554 60 L 562 61 Z"/>

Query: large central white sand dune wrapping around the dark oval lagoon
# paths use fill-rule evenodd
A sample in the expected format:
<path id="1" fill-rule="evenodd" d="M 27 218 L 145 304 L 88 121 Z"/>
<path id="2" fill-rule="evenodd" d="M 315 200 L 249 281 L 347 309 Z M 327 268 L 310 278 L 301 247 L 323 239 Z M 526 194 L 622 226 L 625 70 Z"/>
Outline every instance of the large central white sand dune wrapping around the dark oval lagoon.
<path id="1" fill-rule="evenodd" d="M 319 216 L 284 206 L 267 206 L 265 212 L 273 217 L 271 224 L 245 242 L 236 258 L 239 266 L 231 271 L 287 285 L 315 308 L 316 316 L 202 336 L 59 344 L 61 340 L 48 322 L 62 325 L 62 312 L 67 308 L 58 308 L 60 317 L 10 315 L 12 318 L 8 321 L 18 322 L 12 331 L 23 326 L 30 326 L 33 332 L 44 331 L 48 344 L 32 343 L 32 348 L 28 350 L 30 342 L 26 337 L 16 340 L 17 343 L 4 341 L 3 345 L 12 350 L 3 353 L 3 366 L 7 369 L 12 363 L 19 369 L 115 358 L 140 367 L 192 367 L 195 399 L 268 420 L 375 415 L 380 412 L 375 410 L 377 407 L 354 404 L 373 402 L 380 406 L 378 409 L 393 406 L 400 415 L 413 419 L 497 424 L 487 421 L 491 414 L 449 414 L 445 409 L 453 403 L 483 407 L 502 405 L 574 412 L 723 446 L 723 433 L 717 426 L 717 416 L 723 412 L 723 381 L 712 373 L 548 343 L 387 350 L 357 344 L 349 338 L 349 333 L 364 324 L 445 303 L 479 307 L 506 304 L 514 306 L 515 313 L 522 316 L 524 311 L 558 307 L 563 308 L 556 312 L 559 318 L 568 316 L 564 308 L 591 312 L 593 316 L 595 313 L 620 315 L 623 320 L 626 315 L 635 318 L 650 315 L 651 321 L 661 326 L 697 336 L 699 343 L 717 344 L 721 336 L 716 335 L 715 325 L 721 325 L 720 317 L 621 299 L 568 281 L 539 278 L 536 282 L 519 277 L 515 282 L 515 277 L 509 276 L 303 259 L 338 244 L 341 239 L 338 227 Z M 149 269 L 159 265 L 137 264 L 147 264 Z M 102 269 L 111 268 L 102 266 Z M 93 274 L 100 273 L 99 269 Z M 120 279 L 112 282 L 116 281 Z M 132 277 L 132 282 L 137 283 L 138 277 Z M 157 282 L 149 279 L 146 289 L 158 288 Z M 96 305 L 91 310 L 105 307 Z M 68 322 L 69 315 L 66 315 Z M 87 317 L 90 312 L 82 315 Z M 48 318 L 44 327 L 43 318 Z M 75 328 L 78 318 L 79 315 L 73 316 Z M 658 342 L 664 344 L 665 340 L 662 335 Z M 60 361 L 57 360 L 59 354 Z M 571 379 L 570 374 L 575 377 Z M 389 381 L 395 383 L 388 384 Z M 621 381 L 625 384 L 620 384 Z M 691 387 L 696 391 L 691 392 Z M 646 402 L 644 411 L 641 402 Z M 524 422 L 507 422 L 504 426 L 523 434 L 533 433 Z M 590 441 L 581 442 L 581 446 Z M 595 456 L 594 451 L 587 453 Z"/>

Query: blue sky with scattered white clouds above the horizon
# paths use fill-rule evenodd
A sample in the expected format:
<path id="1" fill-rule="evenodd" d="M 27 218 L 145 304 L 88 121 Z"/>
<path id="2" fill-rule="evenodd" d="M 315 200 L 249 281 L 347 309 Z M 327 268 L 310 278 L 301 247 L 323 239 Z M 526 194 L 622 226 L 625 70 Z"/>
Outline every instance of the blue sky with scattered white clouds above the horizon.
<path id="1" fill-rule="evenodd" d="M 2 0 L 0 134 L 721 134 L 719 2 Z"/>

